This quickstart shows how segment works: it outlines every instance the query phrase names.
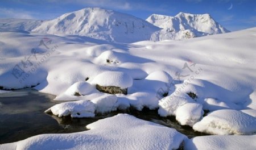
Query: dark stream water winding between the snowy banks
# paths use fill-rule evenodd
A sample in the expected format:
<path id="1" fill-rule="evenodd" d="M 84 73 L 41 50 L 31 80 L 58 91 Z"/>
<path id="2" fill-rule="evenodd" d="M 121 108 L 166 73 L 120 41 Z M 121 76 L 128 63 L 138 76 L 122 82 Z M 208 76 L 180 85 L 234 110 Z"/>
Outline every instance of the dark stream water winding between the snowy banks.
<path id="1" fill-rule="evenodd" d="M 0 94 L 0 144 L 23 140 L 39 134 L 60 134 L 85 131 L 87 124 L 99 119 L 108 118 L 119 113 L 127 113 L 137 118 L 175 128 L 189 138 L 201 136 L 189 126 L 180 126 L 174 117 L 163 118 L 157 110 L 143 109 L 137 111 L 115 111 L 95 118 L 76 119 L 70 116 L 58 118 L 44 111 L 55 105 L 54 95 L 40 93 L 35 90 L 16 90 Z"/>

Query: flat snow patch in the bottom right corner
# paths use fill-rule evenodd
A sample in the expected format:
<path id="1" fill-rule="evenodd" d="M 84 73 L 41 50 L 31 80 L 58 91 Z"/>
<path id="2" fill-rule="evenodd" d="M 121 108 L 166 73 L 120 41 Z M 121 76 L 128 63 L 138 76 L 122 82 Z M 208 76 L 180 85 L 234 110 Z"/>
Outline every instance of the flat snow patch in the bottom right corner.
<path id="1" fill-rule="evenodd" d="M 197 136 L 185 141 L 184 149 L 248 149 L 256 147 L 256 135 L 211 135 Z"/>

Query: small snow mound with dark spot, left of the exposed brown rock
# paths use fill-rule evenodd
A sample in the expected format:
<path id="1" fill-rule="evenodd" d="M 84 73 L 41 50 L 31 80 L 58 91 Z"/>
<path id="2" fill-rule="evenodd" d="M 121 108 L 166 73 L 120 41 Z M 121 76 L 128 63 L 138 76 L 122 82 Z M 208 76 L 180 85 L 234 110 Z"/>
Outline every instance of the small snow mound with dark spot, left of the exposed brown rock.
<path id="1" fill-rule="evenodd" d="M 76 82 L 73 84 L 71 87 L 69 87 L 66 91 L 65 94 L 67 95 L 86 95 L 93 91 L 95 89 L 95 86 L 90 85 L 88 82 Z"/>

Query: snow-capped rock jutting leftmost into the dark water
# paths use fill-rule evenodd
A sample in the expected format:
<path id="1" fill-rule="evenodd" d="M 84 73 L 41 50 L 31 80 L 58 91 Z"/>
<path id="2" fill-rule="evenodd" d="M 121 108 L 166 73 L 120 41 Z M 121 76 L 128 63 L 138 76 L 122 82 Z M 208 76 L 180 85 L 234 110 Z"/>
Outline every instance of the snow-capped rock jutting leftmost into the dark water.
<path id="1" fill-rule="evenodd" d="M 45 113 L 61 116 L 71 115 L 72 118 L 94 117 L 95 106 L 90 101 L 80 100 L 75 102 L 64 102 L 52 106 Z"/>

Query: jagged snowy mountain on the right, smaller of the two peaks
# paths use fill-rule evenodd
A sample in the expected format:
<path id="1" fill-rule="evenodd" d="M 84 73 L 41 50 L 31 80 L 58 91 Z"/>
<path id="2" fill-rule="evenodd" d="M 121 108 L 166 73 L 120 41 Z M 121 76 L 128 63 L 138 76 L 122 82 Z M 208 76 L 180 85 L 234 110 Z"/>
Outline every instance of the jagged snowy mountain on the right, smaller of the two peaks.
<path id="1" fill-rule="evenodd" d="M 176 16 L 152 14 L 146 20 L 155 26 L 163 28 L 155 32 L 151 40 L 180 40 L 229 32 L 209 14 L 197 15 L 184 12 L 180 12 Z"/>

